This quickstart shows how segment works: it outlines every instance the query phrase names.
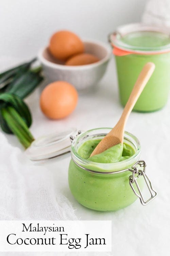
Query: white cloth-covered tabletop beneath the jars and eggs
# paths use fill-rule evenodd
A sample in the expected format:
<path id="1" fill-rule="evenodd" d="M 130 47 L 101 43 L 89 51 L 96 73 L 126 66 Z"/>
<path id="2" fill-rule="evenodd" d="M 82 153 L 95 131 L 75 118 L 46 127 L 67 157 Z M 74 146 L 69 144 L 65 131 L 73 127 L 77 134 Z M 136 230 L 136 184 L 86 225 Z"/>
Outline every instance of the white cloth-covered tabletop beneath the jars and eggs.
<path id="1" fill-rule="evenodd" d="M 119 103 L 118 89 L 116 82 L 115 64 L 112 60 L 109 63 L 108 71 L 103 80 L 99 83 L 96 91 L 86 95 L 80 95 L 77 109 L 63 120 L 52 121 L 47 119 L 38 106 L 38 90 L 27 99 L 33 114 L 33 125 L 31 131 L 35 138 L 40 135 L 54 131 L 60 131 L 70 127 L 87 130 L 95 127 L 113 127 L 122 112 Z M 169 129 L 170 129 L 170 101 L 166 107 L 154 113 L 132 112 L 126 130 L 132 132 L 141 142 L 142 159 L 147 162 L 147 174 L 152 181 L 153 188 L 157 191 L 157 198 L 149 205 L 143 207 L 139 200 L 129 207 L 117 212 L 103 213 L 84 208 L 70 193 L 67 181 L 67 171 L 70 156 L 63 159 L 53 159 L 41 166 L 34 163 L 26 164 L 22 148 L 14 136 L 5 135 L 5 139 L 0 138 L 1 150 L 1 219 L 10 218 L 37 218 L 41 210 L 45 209 L 45 204 L 50 205 L 51 210 L 46 209 L 46 216 L 39 218 L 50 219 L 53 217 L 63 218 L 64 215 L 56 215 L 60 209 L 75 209 L 75 215 L 82 220 L 112 220 L 112 255 L 131 256 L 158 256 L 168 255 L 170 251 L 170 175 L 169 175 Z M 21 151 L 16 147 L 20 147 Z M 5 152 L 5 148 L 9 151 Z M 16 161 L 16 157 L 19 161 Z M 15 167 L 10 167 L 10 159 Z M 14 162 L 15 159 L 15 162 Z M 21 165 L 23 169 L 21 170 Z M 20 169 L 20 172 L 18 171 Z M 15 175 L 17 174 L 17 180 Z M 34 176 L 35 175 L 35 176 Z M 35 181 L 35 177 L 37 180 Z M 42 184 L 47 178 L 44 186 L 48 190 L 49 200 L 39 203 L 43 194 L 41 189 L 36 189 L 31 185 Z M 15 179 L 15 180 L 13 180 Z M 27 181 L 27 182 L 26 182 Z M 21 184 L 23 183 L 23 184 Z M 22 189 L 23 190 L 22 190 Z M 5 191 L 3 191 L 5 190 Z M 4 202 L 5 193 L 13 191 L 13 200 L 17 202 L 8 204 Z M 31 194 L 30 194 L 31 193 Z M 35 203 L 31 198 L 35 195 Z M 64 197 L 65 205 L 61 204 L 61 196 Z M 68 198 L 69 202 L 66 200 Z M 20 202 L 20 203 L 19 203 Z M 55 202 L 55 203 L 54 203 Z M 38 208 L 36 204 L 38 204 Z M 55 204 L 55 205 L 54 205 Z M 57 207 L 57 205 L 59 205 Z M 2 213 L 2 206 L 5 212 Z M 72 210 L 71 210 L 72 211 Z M 50 213 L 50 215 L 48 215 Z M 22 215 L 23 214 L 23 215 Z M 73 212 L 66 210 L 67 218 L 76 218 Z M 71 254 L 71 253 L 70 253 Z M 68 253 L 16 253 L 10 255 L 70 255 Z M 3 253 L 8 255 L 8 253 Z M 94 253 L 72 253 L 71 255 L 94 256 Z M 97 255 L 110 255 L 108 253 L 98 253 Z"/>

